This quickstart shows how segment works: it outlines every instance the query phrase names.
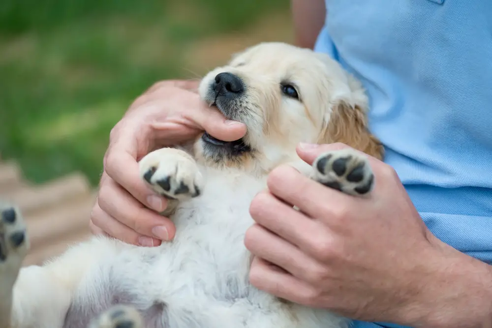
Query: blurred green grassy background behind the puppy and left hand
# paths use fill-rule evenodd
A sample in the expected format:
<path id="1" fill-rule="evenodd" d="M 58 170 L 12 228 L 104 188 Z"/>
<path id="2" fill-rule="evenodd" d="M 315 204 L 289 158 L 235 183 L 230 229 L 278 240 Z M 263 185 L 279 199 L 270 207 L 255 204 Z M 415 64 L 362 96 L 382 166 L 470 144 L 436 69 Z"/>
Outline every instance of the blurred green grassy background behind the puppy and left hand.
<path id="1" fill-rule="evenodd" d="M 96 185 L 109 131 L 154 82 L 292 40 L 289 0 L 1 0 L 0 155 Z"/>

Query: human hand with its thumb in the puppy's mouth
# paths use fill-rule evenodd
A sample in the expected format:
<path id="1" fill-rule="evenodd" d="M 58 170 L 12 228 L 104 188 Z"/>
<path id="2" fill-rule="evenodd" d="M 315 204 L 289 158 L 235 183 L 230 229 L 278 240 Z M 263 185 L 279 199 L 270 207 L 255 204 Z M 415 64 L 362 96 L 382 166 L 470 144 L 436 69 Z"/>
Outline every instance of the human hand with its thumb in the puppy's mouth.
<path id="1" fill-rule="evenodd" d="M 225 141 L 246 134 L 243 123 L 226 120 L 203 104 L 192 91 L 197 88 L 197 81 L 158 82 L 133 102 L 111 130 L 91 214 L 93 233 L 142 246 L 158 246 L 174 238 L 172 221 L 157 213 L 166 208 L 166 199 L 140 179 L 138 161 L 157 147 L 192 140 L 203 130 Z"/>

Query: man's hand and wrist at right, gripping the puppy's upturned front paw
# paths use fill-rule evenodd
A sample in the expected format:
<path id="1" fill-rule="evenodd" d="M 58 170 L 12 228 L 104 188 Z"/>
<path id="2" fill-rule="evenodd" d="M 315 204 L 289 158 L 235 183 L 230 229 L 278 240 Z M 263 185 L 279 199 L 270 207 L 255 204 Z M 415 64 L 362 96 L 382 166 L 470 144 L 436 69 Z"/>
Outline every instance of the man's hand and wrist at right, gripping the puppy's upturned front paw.
<path id="1" fill-rule="evenodd" d="M 343 147 L 304 145 L 298 154 L 311 164 Z M 250 207 L 251 283 L 353 319 L 482 327 L 492 313 L 491 267 L 435 238 L 395 171 L 369 160 L 369 197 L 343 194 L 286 166 L 270 174 L 268 191 Z"/>

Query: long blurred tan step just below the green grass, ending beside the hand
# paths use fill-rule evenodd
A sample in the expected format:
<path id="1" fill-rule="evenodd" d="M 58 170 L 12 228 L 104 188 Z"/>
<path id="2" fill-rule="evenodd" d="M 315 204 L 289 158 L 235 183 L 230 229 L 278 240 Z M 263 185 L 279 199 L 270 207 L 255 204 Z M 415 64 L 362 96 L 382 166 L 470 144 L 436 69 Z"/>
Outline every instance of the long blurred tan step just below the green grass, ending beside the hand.
<path id="1" fill-rule="evenodd" d="M 28 215 L 41 209 L 55 208 L 90 192 L 88 179 L 80 173 L 73 173 L 41 185 L 0 190 L 0 198 L 17 205 L 24 215 Z"/>

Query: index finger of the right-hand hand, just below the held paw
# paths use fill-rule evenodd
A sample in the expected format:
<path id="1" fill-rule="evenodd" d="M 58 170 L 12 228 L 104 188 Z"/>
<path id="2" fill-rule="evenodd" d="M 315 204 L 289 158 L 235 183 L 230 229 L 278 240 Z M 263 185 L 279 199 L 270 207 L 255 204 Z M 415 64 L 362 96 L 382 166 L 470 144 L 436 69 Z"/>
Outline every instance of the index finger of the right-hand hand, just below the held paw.
<path id="1" fill-rule="evenodd" d="M 327 188 L 287 165 L 279 166 L 269 174 L 267 186 L 277 198 L 297 206 L 312 218 L 337 216 L 338 210 L 357 205 L 356 197 Z"/>

